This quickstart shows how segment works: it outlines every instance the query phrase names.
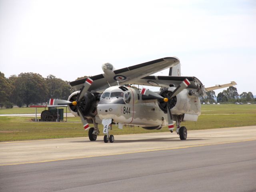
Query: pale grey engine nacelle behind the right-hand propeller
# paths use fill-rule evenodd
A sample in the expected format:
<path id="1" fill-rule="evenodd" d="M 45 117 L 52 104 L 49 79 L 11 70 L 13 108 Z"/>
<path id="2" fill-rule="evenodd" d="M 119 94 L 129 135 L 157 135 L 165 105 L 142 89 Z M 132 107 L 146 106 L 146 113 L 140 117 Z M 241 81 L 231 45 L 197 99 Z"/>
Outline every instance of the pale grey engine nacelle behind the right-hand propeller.
<path id="1" fill-rule="evenodd" d="M 168 91 L 168 88 L 165 88 L 160 92 L 160 95 L 163 97 L 168 97 L 175 89 L 175 87 L 171 87 L 169 88 L 170 91 Z M 187 89 L 182 90 L 167 103 L 162 100 L 158 100 L 158 106 L 161 110 L 167 113 L 168 104 L 170 106 L 172 115 L 193 114 L 199 116 L 201 114 L 200 99 L 195 96 L 190 96 L 188 92 L 189 90 Z"/>

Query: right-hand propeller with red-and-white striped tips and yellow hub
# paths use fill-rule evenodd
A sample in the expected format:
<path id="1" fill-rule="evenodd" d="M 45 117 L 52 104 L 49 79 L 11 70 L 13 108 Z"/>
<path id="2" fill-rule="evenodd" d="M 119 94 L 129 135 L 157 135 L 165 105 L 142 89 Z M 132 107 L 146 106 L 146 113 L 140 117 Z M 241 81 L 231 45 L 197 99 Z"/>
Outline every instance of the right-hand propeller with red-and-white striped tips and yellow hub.
<path id="1" fill-rule="evenodd" d="M 174 96 L 176 96 L 178 93 L 180 93 L 182 90 L 184 90 L 185 88 L 187 88 L 190 85 L 190 81 L 186 78 L 185 80 L 182 81 L 182 83 L 171 93 L 169 98 L 164 98 L 161 95 L 152 92 L 146 88 L 143 88 L 140 93 L 142 95 L 146 95 L 146 96 L 152 96 L 153 98 L 156 99 L 160 99 L 160 100 L 164 100 L 164 102 L 168 102 L 171 98 L 173 98 Z M 171 91 L 168 89 L 168 91 Z M 168 129 L 172 132 L 174 129 L 174 123 L 172 120 L 172 113 L 171 113 L 171 109 L 170 106 L 167 104 L 167 116 L 168 116 Z"/>

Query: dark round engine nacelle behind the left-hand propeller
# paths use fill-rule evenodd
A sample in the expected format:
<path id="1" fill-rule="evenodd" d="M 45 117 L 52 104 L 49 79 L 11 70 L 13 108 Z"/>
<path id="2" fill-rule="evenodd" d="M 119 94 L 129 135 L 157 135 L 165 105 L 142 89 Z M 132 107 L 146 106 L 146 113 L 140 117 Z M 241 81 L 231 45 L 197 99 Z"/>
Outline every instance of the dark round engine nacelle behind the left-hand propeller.
<path id="1" fill-rule="evenodd" d="M 73 102 L 78 98 L 80 91 L 73 92 L 69 97 L 68 101 Z M 94 117 L 97 115 L 97 102 L 96 98 L 98 93 L 86 92 L 82 99 L 77 102 L 77 105 L 82 110 L 83 115 L 87 118 Z M 72 104 L 68 105 L 68 109 L 74 116 L 79 116 L 76 106 Z"/>

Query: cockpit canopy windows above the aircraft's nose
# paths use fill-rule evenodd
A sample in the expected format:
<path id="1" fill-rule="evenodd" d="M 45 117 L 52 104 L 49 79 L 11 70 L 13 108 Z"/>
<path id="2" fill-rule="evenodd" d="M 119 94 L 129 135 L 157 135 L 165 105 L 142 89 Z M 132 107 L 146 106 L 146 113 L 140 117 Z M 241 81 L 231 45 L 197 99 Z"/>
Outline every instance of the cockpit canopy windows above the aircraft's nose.
<path id="1" fill-rule="evenodd" d="M 123 98 L 126 103 L 129 103 L 131 100 L 130 91 L 126 87 L 122 87 L 122 86 L 110 87 L 110 88 L 107 88 L 100 96 L 100 100 L 115 99 L 115 98 Z"/>

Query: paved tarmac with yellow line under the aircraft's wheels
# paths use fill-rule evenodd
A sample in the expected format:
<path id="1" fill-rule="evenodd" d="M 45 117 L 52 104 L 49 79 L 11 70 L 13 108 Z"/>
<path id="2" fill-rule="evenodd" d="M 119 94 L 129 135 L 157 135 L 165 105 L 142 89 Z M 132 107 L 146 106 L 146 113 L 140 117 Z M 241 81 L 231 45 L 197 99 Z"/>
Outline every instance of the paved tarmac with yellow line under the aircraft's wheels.
<path id="1" fill-rule="evenodd" d="M 256 191 L 256 126 L 0 143 L 0 191 Z"/>

